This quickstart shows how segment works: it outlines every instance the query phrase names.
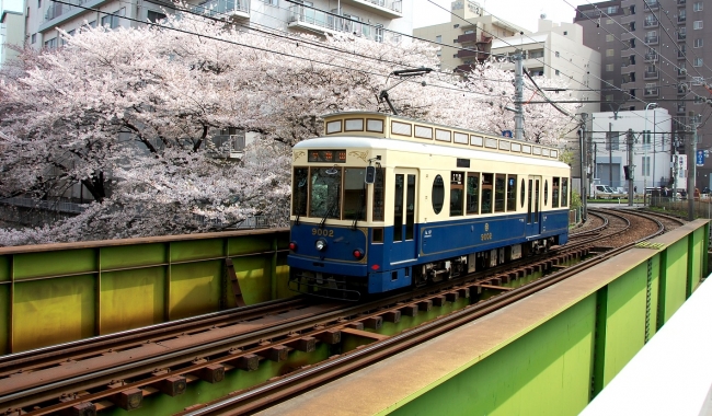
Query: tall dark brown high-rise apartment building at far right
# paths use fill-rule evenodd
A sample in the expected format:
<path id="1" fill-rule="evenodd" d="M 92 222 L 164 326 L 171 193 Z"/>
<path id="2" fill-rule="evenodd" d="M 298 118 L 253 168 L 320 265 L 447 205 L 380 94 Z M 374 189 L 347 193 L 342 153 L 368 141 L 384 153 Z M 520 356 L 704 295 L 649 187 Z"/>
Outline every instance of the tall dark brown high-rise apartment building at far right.
<path id="1" fill-rule="evenodd" d="M 703 0 L 612 0 L 577 7 L 584 44 L 601 55 L 602 111 L 642 111 L 651 103 L 673 117 L 668 145 L 689 152 L 690 129 L 704 122 L 712 99 L 712 4 Z M 654 107 L 655 105 L 650 105 Z M 712 126 L 698 129 L 698 148 L 712 148 Z M 710 186 L 712 163 L 698 167 Z"/>

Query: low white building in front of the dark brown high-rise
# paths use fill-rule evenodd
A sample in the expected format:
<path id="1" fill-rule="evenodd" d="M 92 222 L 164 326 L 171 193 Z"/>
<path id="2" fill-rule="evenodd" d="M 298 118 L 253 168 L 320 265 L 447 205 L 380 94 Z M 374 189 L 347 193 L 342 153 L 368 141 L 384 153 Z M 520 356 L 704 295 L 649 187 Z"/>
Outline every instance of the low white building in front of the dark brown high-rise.
<path id="1" fill-rule="evenodd" d="M 647 117 L 646 117 L 647 116 Z M 673 182 L 670 143 L 673 122 L 665 108 L 595 113 L 592 120 L 592 177 L 604 185 L 628 188 L 623 166 L 629 163 L 627 132 L 632 130 L 633 186 L 669 186 Z M 685 158 L 680 158 L 685 159 Z M 677 171 L 677 187 L 685 187 L 686 164 Z"/>

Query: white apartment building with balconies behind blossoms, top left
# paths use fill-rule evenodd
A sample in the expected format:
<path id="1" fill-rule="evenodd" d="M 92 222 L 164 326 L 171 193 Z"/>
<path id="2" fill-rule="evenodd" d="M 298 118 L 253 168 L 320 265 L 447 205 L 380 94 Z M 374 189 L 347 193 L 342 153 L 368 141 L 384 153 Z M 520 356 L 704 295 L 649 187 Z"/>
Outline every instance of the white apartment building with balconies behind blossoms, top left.
<path id="1" fill-rule="evenodd" d="M 51 0 L 25 0 L 25 35 L 32 46 L 61 46 L 61 38 L 56 31 L 58 27 L 70 35 L 83 24 L 110 28 L 130 27 L 142 24 L 139 22 L 156 22 L 175 11 L 173 2 L 160 0 L 67 2 L 76 5 Z M 377 42 L 398 37 L 393 32 L 410 35 L 413 27 L 413 2 L 409 0 L 188 0 L 187 4 L 191 13 L 236 23 L 317 35 L 347 32 Z"/>

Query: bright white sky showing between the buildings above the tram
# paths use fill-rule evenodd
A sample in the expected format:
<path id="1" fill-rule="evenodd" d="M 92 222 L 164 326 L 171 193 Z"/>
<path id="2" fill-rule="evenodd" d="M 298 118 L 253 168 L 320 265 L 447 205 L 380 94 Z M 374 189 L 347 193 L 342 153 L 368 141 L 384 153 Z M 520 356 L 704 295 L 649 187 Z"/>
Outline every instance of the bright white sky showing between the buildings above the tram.
<path id="1" fill-rule="evenodd" d="M 444 7 L 439 9 L 428 0 L 413 0 L 413 27 L 429 26 L 450 21 L 451 0 L 432 0 Z M 537 31 L 539 15 L 546 14 L 554 23 L 574 21 L 574 8 L 599 0 L 474 0 L 489 12 L 502 20 L 512 22 L 532 32 Z M 573 4 L 570 5 L 570 4 Z"/>

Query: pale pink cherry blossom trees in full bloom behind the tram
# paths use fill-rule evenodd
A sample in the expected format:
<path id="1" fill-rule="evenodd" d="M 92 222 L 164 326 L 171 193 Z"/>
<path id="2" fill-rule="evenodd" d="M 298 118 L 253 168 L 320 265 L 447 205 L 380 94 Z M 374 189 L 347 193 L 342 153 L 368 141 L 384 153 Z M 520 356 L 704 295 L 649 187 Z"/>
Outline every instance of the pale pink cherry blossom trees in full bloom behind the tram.
<path id="1" fill-rule="evenodd" d="M 64 47 L 25 51 L 0 79 L 0 198 L 51 199 L 82 184 L 93 203 L 59 223 L 0 230 L 0 245 L 215 231 L 252 216 L 286 226 L 291 146 L 319 136 L 323 114 L 389 112 L 379 94 L 402 81 L 393 70 L 437 66 L 426 43 L 324 41 L 187 14 L 61 36 Z M 514 125 L 503 109 L 512 79 L 489 62 L 466 79 L 405 80 L 390 96 L 403 116 L 498 131 Z M 530 140 L 556 143 L 571 124 L 549 105 L 528 112 Z M 210 138 L 227 127 L 259 134 L 242 160 L 216 158 Z"/>

